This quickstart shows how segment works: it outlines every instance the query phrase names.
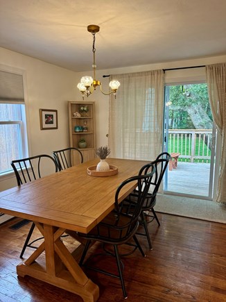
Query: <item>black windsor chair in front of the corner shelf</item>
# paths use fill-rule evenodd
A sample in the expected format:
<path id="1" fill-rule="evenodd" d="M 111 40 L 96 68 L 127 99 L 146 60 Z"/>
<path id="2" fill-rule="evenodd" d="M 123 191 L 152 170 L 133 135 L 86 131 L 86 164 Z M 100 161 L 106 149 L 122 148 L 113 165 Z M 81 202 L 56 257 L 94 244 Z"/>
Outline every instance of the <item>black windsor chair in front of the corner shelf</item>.
<path id="1" fill-rule="evenodd" d="M 71 156 L 73 152 L 78 152 L 78 156 L 80 158 L 80 163 L 83 162 L 82 152 L 77 148 L 66 148 L 58 151 L 53 151 L 53 157 L 58 163 L 59 170 L 62 171 L 64 169 L 70 168 L 71 165 Z"/>

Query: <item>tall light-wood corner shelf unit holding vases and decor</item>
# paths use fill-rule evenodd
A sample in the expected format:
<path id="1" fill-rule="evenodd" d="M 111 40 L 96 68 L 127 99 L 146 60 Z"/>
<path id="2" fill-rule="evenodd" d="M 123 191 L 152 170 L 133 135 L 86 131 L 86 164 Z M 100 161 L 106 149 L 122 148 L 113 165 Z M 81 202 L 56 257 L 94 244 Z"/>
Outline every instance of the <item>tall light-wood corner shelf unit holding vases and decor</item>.
<path id="1" fill-rule="evenodd" d="M 80 112 L 80 106 L 87 106 L 88 112 Z M 81 117 L 74 117 L 73 113 L 79 112 Z M 87 131 L 76 132 L 75 127 L 87 126 Z M 69 101 L 69 135 L 70 135 L 70 146 L 80 149 L 78 142 L 80 139 L 85 139 L 87 147 L 80 149 L 83 156 L 83 162 L 92 160 L 95 157 L 95 111 L 94 102 L 92 101 Z M 74 154 L 72 158 L 72 164 L 78 165 L 79 157 Z"/>

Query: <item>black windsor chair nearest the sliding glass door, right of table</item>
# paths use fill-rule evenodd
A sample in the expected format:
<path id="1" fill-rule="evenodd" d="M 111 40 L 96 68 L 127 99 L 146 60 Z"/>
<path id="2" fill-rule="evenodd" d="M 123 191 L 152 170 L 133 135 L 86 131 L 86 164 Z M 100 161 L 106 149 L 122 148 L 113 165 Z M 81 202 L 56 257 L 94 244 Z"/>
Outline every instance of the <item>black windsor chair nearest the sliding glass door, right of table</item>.
<path id="1" fill-rule="evenodd" d="M 154 210 L 154 206 L 157 202 L 157 192 L 159 190 L 159 186 L 162 182 L 162 178 L 166 171 L 169 160 L 171 159 L 171 155 L 167 152 L 163 152 L 157 156 L 156 160 L 151 162 L 155 166 L 155 176 L 153 176 L 152 182 L 150 184 L 150 190 L 148 194 L 146 194 L 146 199 L 141 208 L 141 215 L 139 217 L 140 225 L 144 227 L 145 233 L 137 232 L 137 235 L 144 235 L 147 237 L 148 245 L 150 249 L 153 249 L 150 235 L 148 232 L 148 224 L 152 222 L 154 219 L 157 221 L 157 224 L 160 226 L 159 219 Z M 148 168 L 146 165 L 142 167 L 139 171 L 139 175 L 147 174 Z M 139 190 L 134 190 L 130 195 L 123 201 L 122 205 L 124 210 L 127 209 L 130 212 L 132 206 L 135 206 L 137 203 L 137 194 L 139 194 Z"/>

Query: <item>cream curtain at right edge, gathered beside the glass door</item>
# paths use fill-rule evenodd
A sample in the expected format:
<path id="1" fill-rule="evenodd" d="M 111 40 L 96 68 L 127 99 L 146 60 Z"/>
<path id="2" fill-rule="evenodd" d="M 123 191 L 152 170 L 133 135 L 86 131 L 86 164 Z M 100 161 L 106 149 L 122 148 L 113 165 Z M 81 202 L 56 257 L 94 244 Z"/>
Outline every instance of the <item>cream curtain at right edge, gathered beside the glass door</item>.
<path id="1" fill-rule="evenodd" d="M 226 63 L 207 65 L 206 72 L 211 110 L 222 138 L 216 201 L 226 203 Z"/>

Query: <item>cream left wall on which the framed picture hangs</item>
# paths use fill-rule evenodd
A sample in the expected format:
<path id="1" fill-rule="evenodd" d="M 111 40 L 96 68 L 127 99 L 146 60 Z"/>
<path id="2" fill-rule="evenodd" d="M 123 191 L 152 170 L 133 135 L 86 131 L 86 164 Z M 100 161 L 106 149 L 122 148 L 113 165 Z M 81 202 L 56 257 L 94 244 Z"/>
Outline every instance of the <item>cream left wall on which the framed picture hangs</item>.
<path id="1" fill-rule="evenodd" d="M 0 48 L 0 68 L 23 72 L 29 155 L 51 155 L 69 145 L 67 100 L 76 94 L 76 74 L 13 51 Z M 40 130 L 40 108 L 58 110 L 58 129 Z M 0 178 L 0 191 L 16 185 L 15 176 Z"/>

